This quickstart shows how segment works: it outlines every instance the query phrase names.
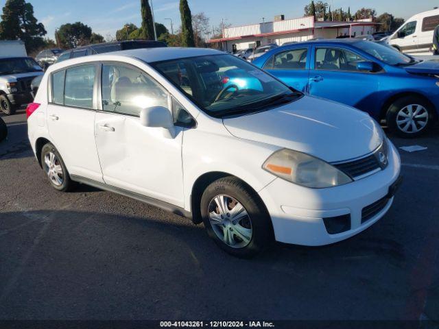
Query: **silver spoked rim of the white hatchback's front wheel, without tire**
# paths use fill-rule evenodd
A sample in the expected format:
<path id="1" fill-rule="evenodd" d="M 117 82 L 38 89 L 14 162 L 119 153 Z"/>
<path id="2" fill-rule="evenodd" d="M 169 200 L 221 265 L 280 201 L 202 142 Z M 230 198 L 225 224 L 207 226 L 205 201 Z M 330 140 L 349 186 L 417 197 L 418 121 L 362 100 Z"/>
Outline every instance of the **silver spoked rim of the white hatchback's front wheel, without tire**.
<path id="1" fill-rule="evenodd" d="M 209 203 L 209 222 L 218 239 L 229 247 L 246 247 L 252 240 L 252 221 L 244 206 L 228 195 L 217 195 Z"/>

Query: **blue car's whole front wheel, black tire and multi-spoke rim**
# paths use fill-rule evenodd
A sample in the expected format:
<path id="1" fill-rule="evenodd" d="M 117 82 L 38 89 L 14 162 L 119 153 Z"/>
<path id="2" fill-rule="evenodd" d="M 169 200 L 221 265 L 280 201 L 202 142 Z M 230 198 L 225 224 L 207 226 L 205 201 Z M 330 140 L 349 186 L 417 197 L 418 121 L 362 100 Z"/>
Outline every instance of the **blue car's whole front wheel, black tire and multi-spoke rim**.
<path id="1" fill-rule="evenodd" d="M 386 116 L 390 131 L 405 138 L 414 138 L 427 132 L 433 119 L 431 105 L 420 97 L 397 99 Z"/>

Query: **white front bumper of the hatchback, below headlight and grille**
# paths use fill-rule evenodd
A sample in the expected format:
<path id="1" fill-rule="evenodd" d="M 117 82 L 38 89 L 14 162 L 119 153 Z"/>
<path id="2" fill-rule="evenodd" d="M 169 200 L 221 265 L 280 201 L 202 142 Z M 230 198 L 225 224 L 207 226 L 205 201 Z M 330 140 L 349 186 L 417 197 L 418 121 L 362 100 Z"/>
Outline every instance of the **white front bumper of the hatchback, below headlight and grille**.
<path id="1" fill-rule="evenodd" d="M 259 195 L 270 213 L 276 241 L 296 245 L 329 245 L 366 230 L 390 209 L 394 183 L 399 180 L 401 160 L 389 142 L 389 164 L 383 171 L 333 188 L 306 188 L 277 178 Z M 372 216 L 365 217 L 368 209 Z M 324 219 L 350 217 L 349 229 L 329 234 Z M 366 220 L 367 219 L 367 220 Z"/>

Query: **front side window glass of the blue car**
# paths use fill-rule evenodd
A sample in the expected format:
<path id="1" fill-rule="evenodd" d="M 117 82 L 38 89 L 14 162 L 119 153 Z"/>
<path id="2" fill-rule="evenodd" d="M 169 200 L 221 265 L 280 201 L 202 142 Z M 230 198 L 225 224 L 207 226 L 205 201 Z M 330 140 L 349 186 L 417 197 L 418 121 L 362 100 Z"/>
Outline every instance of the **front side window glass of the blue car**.
<path id="1" fill-rule="evenodd" d="M 318 48 L 316 50 L 316 70 L 358 71 L 357 63 L 363 61 L 363 58 L 346 49 Z"/>

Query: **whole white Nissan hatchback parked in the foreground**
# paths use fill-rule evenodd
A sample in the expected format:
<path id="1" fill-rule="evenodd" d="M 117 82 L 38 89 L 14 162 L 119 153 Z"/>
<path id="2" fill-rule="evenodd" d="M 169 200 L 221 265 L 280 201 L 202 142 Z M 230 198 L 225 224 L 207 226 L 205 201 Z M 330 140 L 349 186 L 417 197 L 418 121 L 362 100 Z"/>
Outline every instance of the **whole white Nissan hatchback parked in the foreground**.
<path id="1" fill-rule="evenodd" d="M 347 239 L 385 215 L 400 182 L 398 151 L 368 114 L 211 49 L 54 64 L 27 117 L 54 188 L 80 182 L 191 217 L 235 256 Z"/>

